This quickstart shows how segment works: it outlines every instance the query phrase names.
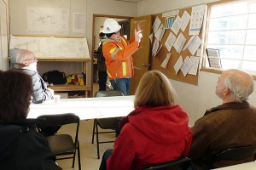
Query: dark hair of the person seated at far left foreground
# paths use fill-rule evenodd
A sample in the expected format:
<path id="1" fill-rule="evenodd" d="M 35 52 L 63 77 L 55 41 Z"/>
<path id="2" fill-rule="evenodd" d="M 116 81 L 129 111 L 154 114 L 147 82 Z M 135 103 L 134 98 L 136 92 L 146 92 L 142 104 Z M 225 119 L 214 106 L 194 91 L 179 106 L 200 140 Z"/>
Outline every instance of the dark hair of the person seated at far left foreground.
<path id="1" fill-rule="evenodd" d="M 26 119 L 32 96 L 32 78 L 26 73 L 0 71 L 0 124 Z"/>

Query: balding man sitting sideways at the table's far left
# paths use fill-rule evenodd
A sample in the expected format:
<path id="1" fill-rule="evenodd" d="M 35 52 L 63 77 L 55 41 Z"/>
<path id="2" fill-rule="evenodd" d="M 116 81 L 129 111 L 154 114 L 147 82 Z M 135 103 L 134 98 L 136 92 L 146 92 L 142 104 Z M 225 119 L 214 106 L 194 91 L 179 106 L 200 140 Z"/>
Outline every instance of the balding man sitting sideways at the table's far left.
<path id="1" fill-rule="evenodd" d="M 35 55 L 26 49 L 20 49 L 16 54 L 16 63 L 14 68 L 25 72 L 32 77 L 32 102 L 41 104 L 48 99 L 52 99 L 54 90 L 47 88 L 43 78 L 38 74 L 38 59 Z M 61 127 L 44 127 L 42 133 L 44 135 L 52 135 L 56 133 Z"/>

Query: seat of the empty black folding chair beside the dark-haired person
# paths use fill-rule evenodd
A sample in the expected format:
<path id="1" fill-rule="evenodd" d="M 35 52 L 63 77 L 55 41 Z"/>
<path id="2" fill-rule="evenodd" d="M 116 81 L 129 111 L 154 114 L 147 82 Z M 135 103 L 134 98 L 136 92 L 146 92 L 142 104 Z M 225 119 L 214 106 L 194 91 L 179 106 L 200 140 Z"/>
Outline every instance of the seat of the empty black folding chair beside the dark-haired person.
<path id="1" fill-rule="evenodd" d="M 55 136 L 46 137 L 49 142 L 50 149 L 57 156 L 72 154 L 75 152 L 75 147 L 73 147 L 73 139 L 68 134 L 58 134 Z"/>

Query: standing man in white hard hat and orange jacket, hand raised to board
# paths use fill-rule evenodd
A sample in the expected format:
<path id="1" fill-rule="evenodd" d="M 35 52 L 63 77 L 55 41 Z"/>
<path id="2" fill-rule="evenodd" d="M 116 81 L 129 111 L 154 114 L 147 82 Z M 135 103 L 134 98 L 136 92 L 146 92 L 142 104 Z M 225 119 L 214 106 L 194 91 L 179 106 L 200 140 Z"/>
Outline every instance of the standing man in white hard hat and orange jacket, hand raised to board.
<path id="1" fill-rule="evenodd" d="M 130 43 L 120 35 L 121 26 L 116 20 L 106 19 L 103 25 L 105 38 L 102 39 L 102 52 L 106 59 L 108 78 L 114 90 L 124 95 L 130 94 L 131 77 L 134 75 L 131 54 L 134 54 L 141 42 L 140 26 L 134 31 Z"/>

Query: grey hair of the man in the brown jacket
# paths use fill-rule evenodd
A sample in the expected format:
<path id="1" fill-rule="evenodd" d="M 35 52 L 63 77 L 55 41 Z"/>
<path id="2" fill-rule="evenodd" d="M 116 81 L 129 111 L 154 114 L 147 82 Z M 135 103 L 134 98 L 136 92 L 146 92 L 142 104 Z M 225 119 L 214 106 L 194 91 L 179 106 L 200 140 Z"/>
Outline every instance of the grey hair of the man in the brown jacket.
<path id="1" fill-rule="evenodd" d="M 247 83 L 242 77 L 231 73 L 225 78 L 224 86 L 232 92 L 233 101 L 242 102 L 247 100 L 249 95 L 253 93 L 253 77 L 252 83 Z"/>

